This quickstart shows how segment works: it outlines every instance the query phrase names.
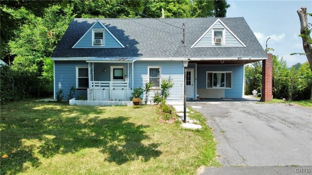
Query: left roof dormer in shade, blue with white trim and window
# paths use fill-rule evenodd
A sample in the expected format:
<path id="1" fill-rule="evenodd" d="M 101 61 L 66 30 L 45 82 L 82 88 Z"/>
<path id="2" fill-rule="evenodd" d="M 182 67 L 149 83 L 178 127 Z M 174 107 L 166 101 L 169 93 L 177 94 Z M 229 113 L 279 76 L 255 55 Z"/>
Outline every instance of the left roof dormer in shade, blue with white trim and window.
<path id="1" fill-rule="evenodd" d="M 124 48 L 124 46 L 97 20 L 72 48 Z"/>

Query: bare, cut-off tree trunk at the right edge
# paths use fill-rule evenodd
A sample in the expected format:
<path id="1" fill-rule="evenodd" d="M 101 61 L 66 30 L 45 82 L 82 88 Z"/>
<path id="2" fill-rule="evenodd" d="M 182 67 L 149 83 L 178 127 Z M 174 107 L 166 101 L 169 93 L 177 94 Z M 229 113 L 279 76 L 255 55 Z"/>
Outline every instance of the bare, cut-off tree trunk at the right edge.
<path id="1" fill-rule="evenodd" d="M 310 64 L 310 70 L 312 72 L 312 46 L 309 42 L 309 40 L 311 41 L 311 36 L 309 35 L 310 29 L 308 28 L 307 8 L 301 7 L 297 10 L 297 13 L 298 13 L 299 18 L 300 18 L 300 26 L 301 26 L 300 34 L 304 35 L 304 37 L 301 36 L 303 50 L 306 53 L 307 59 L 308 59 L 309 64 Z M 311 90 L 310 100 L 312 100 L 312 90 Z"/>

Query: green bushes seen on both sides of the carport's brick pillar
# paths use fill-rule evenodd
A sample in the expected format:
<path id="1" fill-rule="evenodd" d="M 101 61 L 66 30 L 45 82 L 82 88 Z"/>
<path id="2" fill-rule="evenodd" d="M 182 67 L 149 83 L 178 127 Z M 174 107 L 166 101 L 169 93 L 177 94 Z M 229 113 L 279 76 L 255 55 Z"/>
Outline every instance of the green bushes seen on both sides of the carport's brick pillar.
<path id="1" fill-rule="evenodd" d="M 261 90 L 262 65 L 260 62 L 245 66 L 245 94 L 252 90 Z M 309 62 L 295 64 L 287 68 L 283 57 L 273 55 L 273 98 L 288 100 L 306 100 L 311 97 L 312 72 Z"/>

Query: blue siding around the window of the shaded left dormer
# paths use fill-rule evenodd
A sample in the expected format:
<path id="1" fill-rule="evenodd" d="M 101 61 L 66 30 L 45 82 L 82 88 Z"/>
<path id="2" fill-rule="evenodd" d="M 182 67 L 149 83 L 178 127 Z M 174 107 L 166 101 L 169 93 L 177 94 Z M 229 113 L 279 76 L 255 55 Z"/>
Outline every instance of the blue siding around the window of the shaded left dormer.
<path id="1" fill-rule="evenodd" d="M 94 30 L 104 30 L 104 42 L 105 46 L 92 46 L 92 29 Z M 116 39 L 110 35 L 101 24 L 98 22 L 83 38 L 77 43 L 74 48 L 122 48 Z"/>

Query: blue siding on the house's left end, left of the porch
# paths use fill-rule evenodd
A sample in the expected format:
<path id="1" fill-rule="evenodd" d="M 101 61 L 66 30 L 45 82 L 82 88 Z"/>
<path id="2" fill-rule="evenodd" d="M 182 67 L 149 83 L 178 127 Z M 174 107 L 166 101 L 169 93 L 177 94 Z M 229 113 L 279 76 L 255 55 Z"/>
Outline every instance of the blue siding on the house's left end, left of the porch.
<path id="1" fill-rule="evenodd" d="M 67 99 L 70 88 L 76 87 L 76 66 L 88 66 L 85 61 L 54 61 L 55 64 L 55 95 L 59 89 L 63 90 L 64 99 Z M 87 90 L 76 90 L 74 98 L 79 95 L 87 97 Z M 54 97 L 56 99 L 56 96 Z"/>

